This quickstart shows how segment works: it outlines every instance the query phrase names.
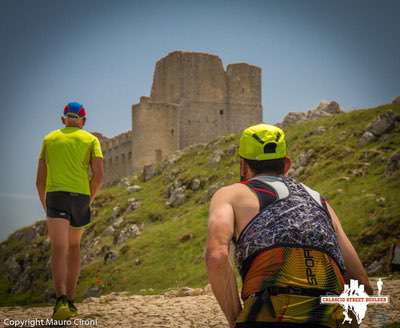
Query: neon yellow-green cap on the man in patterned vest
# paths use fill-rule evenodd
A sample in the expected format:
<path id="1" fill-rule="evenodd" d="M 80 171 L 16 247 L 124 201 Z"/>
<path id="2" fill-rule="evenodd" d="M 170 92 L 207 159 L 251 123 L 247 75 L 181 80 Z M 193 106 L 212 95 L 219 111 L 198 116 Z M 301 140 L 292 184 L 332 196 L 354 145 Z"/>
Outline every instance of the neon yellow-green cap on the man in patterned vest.
<path id="1" fill-rule="evenodd" d="M 245 159 L 263 161 L 286 157 L 285 134 L 269 124 L 257 124 L 243 130 L 239 155 Z"/>

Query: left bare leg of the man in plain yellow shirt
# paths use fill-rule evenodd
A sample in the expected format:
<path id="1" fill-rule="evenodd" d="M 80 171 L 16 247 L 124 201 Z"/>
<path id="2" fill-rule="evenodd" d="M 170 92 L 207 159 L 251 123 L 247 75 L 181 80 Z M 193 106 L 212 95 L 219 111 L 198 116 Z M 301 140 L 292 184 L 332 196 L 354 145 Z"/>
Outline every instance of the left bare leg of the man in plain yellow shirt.
<path id="1" fill-rule="evenodd" d="M 51 242 L 51 271 L 57 297 L 66 294 L 69 229 L 69 221 L 66 219 L 47 219 Z"/>

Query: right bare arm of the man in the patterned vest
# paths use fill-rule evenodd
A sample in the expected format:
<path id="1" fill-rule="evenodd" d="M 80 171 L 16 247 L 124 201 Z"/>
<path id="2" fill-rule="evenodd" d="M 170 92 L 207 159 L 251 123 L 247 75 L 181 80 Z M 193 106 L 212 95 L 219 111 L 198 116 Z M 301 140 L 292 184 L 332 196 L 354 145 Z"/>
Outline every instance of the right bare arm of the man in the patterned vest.
<path id="1" fill-rule="evenodd" d="M 338 239 L 340 250 L 342 251 L 343 254 L 344 264 L 346 266 L 346 270 L 349 274 L 349 277 L 352 279 L 357 279 L 361 284 L 364 285 L 365 291 L 368 294 L 372 295 L 373 289 L 369 283 L 368 275 L 364 269 L 364 266 L 361 263 L 360 258 L 357 255 L 356 250 L 354 249 L 349 238 L 344 232 L 335 211 L 328 204 L 328 202 L 326 202 L 326 205 L 328 207 L 329 214 L 331 215 L 332 218 L 332 224 L 336 231 L 336 236 Z"/>

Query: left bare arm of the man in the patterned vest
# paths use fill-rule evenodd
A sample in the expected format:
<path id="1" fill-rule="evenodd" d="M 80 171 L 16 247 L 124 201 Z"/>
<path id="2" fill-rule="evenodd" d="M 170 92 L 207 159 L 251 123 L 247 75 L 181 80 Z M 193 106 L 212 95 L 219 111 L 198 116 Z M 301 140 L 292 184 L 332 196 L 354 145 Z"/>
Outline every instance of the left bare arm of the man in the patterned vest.
<path id="1" fill-rule="evenodd" d="M 224 189 L 219 189 L 210 203 L 206 263 L 214 295 L 230 327 L 234 327 L 242 307 L 229 260 L 229 245 L 234 233 L 234 211 Z"/>

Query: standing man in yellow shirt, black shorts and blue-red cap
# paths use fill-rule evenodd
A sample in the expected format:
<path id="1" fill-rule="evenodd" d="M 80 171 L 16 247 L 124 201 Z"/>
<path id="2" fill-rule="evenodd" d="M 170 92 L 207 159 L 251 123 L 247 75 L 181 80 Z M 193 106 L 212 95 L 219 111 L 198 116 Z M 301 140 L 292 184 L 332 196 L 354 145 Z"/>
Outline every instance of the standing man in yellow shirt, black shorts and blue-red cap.
<path id="1" fill-rule="evenodd" d="M 80 272 L 80 240 L 83 227 L 90 223 L 90 204 L 103 179 L 100 142 L 83 130 L 84 107 L 69 103 L 61 119 L 65 127 L 50 132 L 43 140 L 36 179 L 51 242 L 56 320 L 78 314 L 73 298 Z"/>

